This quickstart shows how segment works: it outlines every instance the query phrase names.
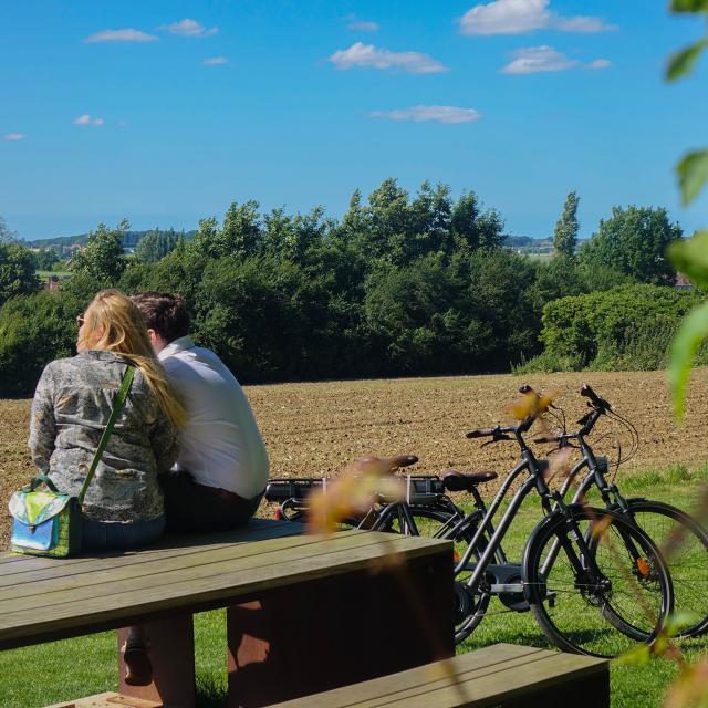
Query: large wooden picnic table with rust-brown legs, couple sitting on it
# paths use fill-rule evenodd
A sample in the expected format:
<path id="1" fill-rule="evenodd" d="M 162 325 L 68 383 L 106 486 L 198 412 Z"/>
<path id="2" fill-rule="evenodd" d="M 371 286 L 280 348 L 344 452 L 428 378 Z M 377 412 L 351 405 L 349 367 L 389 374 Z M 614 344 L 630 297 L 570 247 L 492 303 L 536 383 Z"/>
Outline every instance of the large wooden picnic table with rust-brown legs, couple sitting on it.
<path id="1" fill-rule="evenodd" d="M 122 683 L 121 698 L 90 704 L 114 708 L 131 700 L 140 708 L 192 708 L 192 614 L 216 607 L 228 607 L 233 708 L 454 654 L 448 542 L 366 531 L 323 539 L 298 530 L 256 520 L 214 537 L 166 537 L 138 552 L 64 560 L 0 555 L 0 649 L 144 624 L 153 684 Z M 392 553 L 404 563 L 391 564 Z"/>

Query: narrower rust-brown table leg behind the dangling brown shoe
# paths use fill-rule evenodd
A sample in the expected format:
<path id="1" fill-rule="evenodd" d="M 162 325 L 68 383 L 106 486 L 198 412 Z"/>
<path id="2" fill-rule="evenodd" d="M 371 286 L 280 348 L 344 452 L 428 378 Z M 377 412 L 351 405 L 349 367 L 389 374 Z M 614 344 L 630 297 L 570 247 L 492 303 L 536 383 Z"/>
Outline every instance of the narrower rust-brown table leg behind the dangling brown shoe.
<path id="1" fill-rule="evenodd" d="M 195 635 L 191 614 L 177 614 L 143 625 L 149 643 L 153 683 L 125 683 L 123 645 L 127 628 L 118 631 L 118 676 L 122 696 L 154 700 L 169 708 L 195 707 Z"/>

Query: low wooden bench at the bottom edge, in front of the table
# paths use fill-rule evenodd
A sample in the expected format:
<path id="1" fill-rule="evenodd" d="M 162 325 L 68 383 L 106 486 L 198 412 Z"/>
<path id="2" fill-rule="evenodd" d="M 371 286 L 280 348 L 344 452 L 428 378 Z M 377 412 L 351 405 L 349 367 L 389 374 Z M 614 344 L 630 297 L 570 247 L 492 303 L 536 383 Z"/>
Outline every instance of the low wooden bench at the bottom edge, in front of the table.
<path id="1" fill-rule="evenodd" d="M 608 662 L 511 644 L 271 708 L 608 708 Z"/>

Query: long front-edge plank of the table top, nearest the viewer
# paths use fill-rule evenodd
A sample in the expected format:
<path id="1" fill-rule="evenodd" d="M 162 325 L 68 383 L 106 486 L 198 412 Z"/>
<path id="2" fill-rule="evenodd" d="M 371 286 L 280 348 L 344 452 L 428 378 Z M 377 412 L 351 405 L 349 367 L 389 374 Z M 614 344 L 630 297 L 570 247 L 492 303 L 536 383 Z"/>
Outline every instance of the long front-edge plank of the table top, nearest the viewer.
<path id="1" fill-rule="evenodd" d="M 126 590 L 92 597 L 79 604 L 65 602 L 53 605 L 51 612 L 38 612 L 32 608 L 3 615 L 0 606 L 0 648 L 31 644 L 32 637 L 38 636 L 46 641 L 49 637 L 59 638 L 77 634 L 80 631 L 97 632 L 118 627 L 125 622 L 149 618 L 166 611 L 198 611 L 225 606 L 236 600 L 249 598 L 259 592 L 287 586 L 293 582 L 366 571 L 371 569 L 372 562 L 385 558 L 391 552 L 399 553 L 404 559 L 449 553 L 449 542 L 372 532 L 354 533 L 365 534 L 374 543 L 323 553 L 314 559 L 267 563 L 258 568 L 237 569 L 218 576 L 169 585 L 160 584 L 159 576 L 156 576 L 154 586 L 149 589 L 135 592 Z"/>

